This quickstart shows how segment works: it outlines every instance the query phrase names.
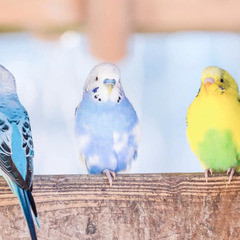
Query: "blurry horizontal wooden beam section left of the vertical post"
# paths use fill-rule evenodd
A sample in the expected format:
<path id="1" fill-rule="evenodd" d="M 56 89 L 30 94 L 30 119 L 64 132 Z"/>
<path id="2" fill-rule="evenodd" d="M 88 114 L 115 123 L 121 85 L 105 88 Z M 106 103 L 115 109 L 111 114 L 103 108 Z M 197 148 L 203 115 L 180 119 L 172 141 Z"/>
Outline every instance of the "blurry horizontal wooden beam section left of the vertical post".
<path id="1" fill-rule="evenodd" d="M 83 0 L 0 1 L 0 25 L 30 31 L 65 30 L 83 21 Z"/>

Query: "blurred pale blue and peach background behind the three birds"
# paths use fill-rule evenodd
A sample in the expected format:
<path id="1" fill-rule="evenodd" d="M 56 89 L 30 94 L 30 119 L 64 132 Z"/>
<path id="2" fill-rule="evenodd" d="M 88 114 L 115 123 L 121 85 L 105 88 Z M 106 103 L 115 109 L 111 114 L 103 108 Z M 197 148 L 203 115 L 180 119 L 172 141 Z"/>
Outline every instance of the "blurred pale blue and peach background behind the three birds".
<path id="1" fill-rule="evenodd" d="M 35 174 L 84 173 L 74 110 L 89 71 L 110 61 L 142 127 L 132 172 L 197 172 L 185 117 L 203 68 L 240 83 L 238 0 L 0 1 L 0 64 L 29 112 Z"/>

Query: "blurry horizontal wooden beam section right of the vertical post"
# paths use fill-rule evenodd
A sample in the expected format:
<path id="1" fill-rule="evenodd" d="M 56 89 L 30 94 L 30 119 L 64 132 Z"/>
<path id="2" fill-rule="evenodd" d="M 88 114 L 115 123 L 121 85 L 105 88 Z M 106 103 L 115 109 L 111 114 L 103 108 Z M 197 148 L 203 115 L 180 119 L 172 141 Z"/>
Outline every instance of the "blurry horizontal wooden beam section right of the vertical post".
<path id="1" fill-rule="evenodd" d="M 238 0 L 133 0 L 135 30 L 240 31 Z"/>

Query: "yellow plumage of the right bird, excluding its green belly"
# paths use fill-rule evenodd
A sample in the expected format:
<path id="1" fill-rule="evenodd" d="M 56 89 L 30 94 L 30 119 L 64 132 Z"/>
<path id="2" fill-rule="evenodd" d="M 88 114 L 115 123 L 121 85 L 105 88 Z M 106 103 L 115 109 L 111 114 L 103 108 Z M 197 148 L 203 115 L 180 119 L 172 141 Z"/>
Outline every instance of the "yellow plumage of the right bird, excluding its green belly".
<path id="1" fill-rule="evenodd" d="M 214 82 L 206 84 L 206 79 L 210 78 Z M 204 141 L 211 129 L 216 129 L 220 135 L 230 131 L 240 152 L 239 92 L 237 83 L 227 71 L 218 67 L 203 70 L 199 94 L 187 112 L 187 124 L 187 138 L 199 159 L 199 143 Z M 204 169 L 208 167 L 203 162 L 201 164 Z"/>

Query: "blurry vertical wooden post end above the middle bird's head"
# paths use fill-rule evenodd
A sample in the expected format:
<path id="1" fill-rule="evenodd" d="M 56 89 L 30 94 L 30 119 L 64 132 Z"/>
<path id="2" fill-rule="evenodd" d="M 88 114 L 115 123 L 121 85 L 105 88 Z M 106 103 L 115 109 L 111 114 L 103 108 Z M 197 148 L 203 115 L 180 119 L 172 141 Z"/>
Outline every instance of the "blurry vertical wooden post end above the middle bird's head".
<path id="1" fill-rule="evenodd" d="M 90 51 L 107 61 L 123 58 L 132 27 L 131 1 L 87 0 L 86 29 Z"/>

